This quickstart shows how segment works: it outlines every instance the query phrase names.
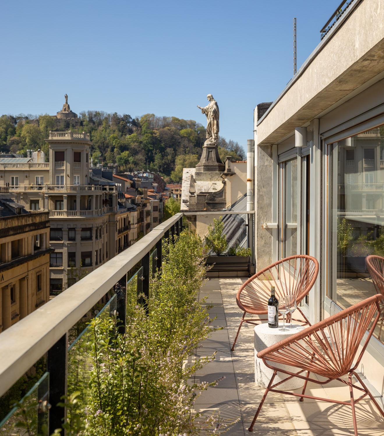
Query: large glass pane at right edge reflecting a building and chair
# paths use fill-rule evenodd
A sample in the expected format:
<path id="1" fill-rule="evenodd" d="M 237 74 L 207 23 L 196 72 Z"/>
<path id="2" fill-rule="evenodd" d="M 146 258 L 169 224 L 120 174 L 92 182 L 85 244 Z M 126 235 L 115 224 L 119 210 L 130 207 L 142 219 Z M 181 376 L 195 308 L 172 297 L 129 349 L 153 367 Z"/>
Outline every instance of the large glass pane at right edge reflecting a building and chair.
<path id="1" fill-rule="evenodd" d="M 377 135 L 359 133 L 330 144 L 328 150 L 328 198 L 332 200 L 326 204 L 326 289 L 329 298 L 342 309 L 377 293 L 366 258 L 372 254 L 384 256 L 384 167 L 376 159 L 384 140 L 384 126 L 375 130 Z M 349 150 L 350 144 L 354 150 Z M 355 164 L 345 165 L 352 153 Z M 374 335 L 384 343 L 379 327 Z"/>

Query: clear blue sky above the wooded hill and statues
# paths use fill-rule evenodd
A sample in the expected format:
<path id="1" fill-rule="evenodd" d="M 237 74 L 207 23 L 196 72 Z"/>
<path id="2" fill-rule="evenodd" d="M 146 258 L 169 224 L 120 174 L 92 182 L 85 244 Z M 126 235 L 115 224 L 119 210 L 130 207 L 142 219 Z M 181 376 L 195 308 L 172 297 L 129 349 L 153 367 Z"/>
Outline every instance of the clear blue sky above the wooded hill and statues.
<path id="1" fill-rule="evenodd" d="M 242 146 L 253 109 L 273 101 L 320 41 L 339 0 L 4 1 L 0 115 L 155 113 L 205 124 L 211 93 L 220 135 Z"/>

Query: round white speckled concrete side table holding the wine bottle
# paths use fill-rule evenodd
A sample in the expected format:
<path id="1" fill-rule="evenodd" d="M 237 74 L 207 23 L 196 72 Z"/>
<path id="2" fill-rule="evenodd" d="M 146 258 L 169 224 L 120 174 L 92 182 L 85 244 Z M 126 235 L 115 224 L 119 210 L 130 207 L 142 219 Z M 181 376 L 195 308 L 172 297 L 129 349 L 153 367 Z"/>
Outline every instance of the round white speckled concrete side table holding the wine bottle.
<path id="1" fill-rule="evenodd" d="M 287 326 L 287 324 L 285 325 Z M 262 388 L 266 388 L 273 375 L 273 370 L 265 366 L 263 359 L 259 359 L 257 357 L 257 353 L 259 351 L 264 350 L 267 347 L 270 347 L 271 345 L 276 344 L 279 341 L 282 341 L 283 339 L 286 339 L 287 337 L 294 335 L 295 333 L 298 333 L 299 331 L 305 328 L 298 324 L 293 324 L 293 326 L 295 328 L 292 329 L 289 328 L 288 331 L 280 331 L 280 328 L 283 328 L 283 324 L 279 324 L 279 327 L 277 328 L 268 327 L 268 323 L 258 324 L 255 327 L 254 331 L 255 331 L 256 385 Z M 286 371 L 291 371 L 291 372 L 298 372 L 298 368 L 296 367 L 283 365 L 275 362 L 271 362 L 271 363 L 276 368 L 282 368 L 285 369 Z M 284 374 L 284 372 L 277 371 L 276 377 L 273 380 L 273 384 L 278 383 L 279 381 L 284 380 L 284 378 L 287 377 L 289 377 L 288 374 Z M 277 386 L 276 389 L 289 391 L 291 389 L 301 388 L 303 385 L 304 385 L 304 380 L 302 378 L 293 377 L 291 378 L 291 380 L 288 380 L 285 383 L 282 383 L 281 385 Z"/>

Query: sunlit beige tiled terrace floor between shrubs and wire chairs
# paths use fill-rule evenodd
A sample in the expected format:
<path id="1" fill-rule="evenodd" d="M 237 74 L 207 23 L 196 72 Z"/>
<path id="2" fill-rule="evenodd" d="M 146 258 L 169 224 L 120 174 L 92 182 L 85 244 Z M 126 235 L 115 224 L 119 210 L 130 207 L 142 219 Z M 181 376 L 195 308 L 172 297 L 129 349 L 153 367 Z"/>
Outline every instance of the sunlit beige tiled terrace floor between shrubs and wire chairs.
<path id="1" fill-rule="evenodd" d="M 235 296 L 242 278 L 210 279 L 202 286 L 200 298 L 208 296 L 213 305 L 211 316 L 216 316 L 213 325 L 223 327 L 201 343 L 198 356 L 216 352 L 216 358 L 195 374 L 195 381 L 214 381 L 223 375 L 217 386 L 203 391 L 197 398 L 195 410 L 204 416 L 220 412 L 221 419 L 233 421 L 239 418 L 228 435 L 247 435 L 259 401 L 265 391 L 254 381 L 253 326 L 245 324 L 239 335 L 235 351 L 231 351 L 242 312 Z M 193 357 L 192 357 L 193 359 Z M 300 389 L 299 389 L 300 391 Z M 356 391 L 356 396 L 359 391 Z M 349 401 L 349 389 L 339 381 L 326 387 L 308 383 L 308 395 Z M 355 396 L 355 398 L 356 398 Z M 370 400 L 356 405 L 359 435 L 383 436 L 384 419 Z M 263 436 L 343 436 L 353 435 L 352 411 L 349 406 L 337 405 L 297 397 L 269 393 L 256 421 L 253 434 Z"/>

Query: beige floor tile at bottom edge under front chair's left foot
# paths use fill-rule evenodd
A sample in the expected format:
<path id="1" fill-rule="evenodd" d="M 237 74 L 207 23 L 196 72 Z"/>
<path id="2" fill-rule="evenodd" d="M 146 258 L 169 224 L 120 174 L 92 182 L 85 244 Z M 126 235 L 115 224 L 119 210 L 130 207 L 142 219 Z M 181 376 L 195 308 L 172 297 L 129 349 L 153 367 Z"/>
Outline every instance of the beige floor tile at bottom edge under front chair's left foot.
<path id="1" fill-rule="evenodd" d="M 258 407 L 258 402 L 254 404 L 240 404 L 245 434 L 255 434 L 258 436 L 297 435 L 284 402 L 264 403 L 255 426 L 253 427 L 253 433 L 250 433 L 248 428 L 251 425 Z"/>

